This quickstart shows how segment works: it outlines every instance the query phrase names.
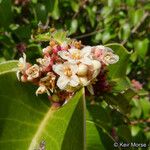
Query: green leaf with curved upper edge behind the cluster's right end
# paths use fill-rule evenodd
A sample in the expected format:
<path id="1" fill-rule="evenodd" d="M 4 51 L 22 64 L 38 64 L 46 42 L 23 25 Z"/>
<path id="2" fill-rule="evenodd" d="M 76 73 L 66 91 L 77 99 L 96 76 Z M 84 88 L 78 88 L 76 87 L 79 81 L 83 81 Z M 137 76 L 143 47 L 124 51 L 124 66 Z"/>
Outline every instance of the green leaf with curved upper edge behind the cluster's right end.
<path id="1" fill-rule="evenodd" d="M 122 45 L 120 44 L 107 44 L 105 45 L 110 47 L 115 54 L 119 56 L 119 61 L 116 64 L 110 65 L 108 76 L 111 81 L 116 82 L 114 90 L 122 91 L 126 90 L 130 87 L 129 79 L 126 76 L 128 62 L 130 59 L 130 52 L 128 52 Z M 124 86 L 123 86 L 124 85 Z"/>

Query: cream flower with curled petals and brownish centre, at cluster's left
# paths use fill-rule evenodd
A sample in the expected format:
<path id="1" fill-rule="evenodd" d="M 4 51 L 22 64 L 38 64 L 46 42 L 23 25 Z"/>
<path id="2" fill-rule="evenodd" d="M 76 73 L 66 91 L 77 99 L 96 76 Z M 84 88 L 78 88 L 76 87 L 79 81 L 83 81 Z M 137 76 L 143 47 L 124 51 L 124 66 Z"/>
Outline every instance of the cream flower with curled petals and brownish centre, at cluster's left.
<path id="1" fill-rule="evenodd" d="M 40 76 L 40 67 L 36 64 L 26 70 L 27 80 L 31 81 Z"/>

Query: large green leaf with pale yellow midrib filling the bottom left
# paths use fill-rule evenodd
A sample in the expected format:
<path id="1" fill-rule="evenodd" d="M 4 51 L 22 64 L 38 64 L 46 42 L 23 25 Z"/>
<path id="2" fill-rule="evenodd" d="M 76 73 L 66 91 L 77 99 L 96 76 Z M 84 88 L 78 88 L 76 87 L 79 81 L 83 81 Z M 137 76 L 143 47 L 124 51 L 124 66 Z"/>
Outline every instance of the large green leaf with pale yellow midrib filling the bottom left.
<path id="1" fill-rule="evenodd" d="M 33 150 L 42 141 L 47 150 L 84 149 L 82 90 L 55 110 L 47 97 L 35 96 L 35 86 L 20 83 L 14 71 L 1 74 L 0 85 L 0 149 Z"/>

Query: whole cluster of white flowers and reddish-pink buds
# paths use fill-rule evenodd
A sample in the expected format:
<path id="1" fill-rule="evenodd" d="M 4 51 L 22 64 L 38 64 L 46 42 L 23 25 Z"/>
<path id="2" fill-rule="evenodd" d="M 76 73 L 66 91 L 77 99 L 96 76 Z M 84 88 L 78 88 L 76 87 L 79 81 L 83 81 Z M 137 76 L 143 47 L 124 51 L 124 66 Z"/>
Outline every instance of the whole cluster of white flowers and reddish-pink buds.
<path id="1" fill-rule="evenodd" d="M 36 95 L 47 93 L 51 101 L 63 104 L 81 87 L 86 86 L 94 94 L 93 85 L 99 73 L 118 60 L 118 55 L 102 45 L 84 46 L 71 39 L 60 43 L 51 38 L 36 64 L 28 63 L 23 54 L 17 77 L 38 85 Z"/>

